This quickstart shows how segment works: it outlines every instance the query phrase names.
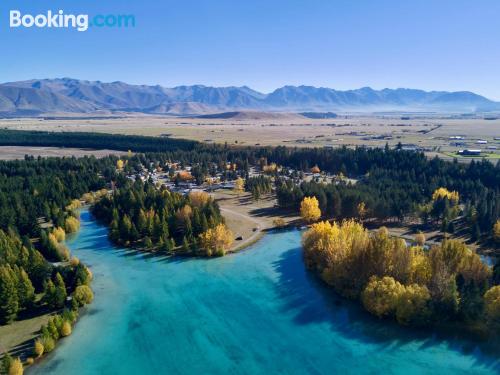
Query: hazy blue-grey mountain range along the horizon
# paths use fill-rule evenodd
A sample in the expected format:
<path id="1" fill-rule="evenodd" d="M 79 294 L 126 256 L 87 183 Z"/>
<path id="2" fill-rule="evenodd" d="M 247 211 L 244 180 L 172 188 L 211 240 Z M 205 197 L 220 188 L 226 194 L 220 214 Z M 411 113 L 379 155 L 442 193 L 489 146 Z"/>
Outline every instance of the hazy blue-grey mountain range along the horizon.
<path id="1" fill-rule="evenodd" d="M 0 84 L 1 116 L 43 114 L 144 113 L 206 115 L 228 111 L 268 112 L 436 112 L 500 111 L 500 103 L 469 91 L 340 91 L 313 86 L 284 86 L 269 94 L 242 87 L 162 86 L 105 83 L 72 78 Z"/>

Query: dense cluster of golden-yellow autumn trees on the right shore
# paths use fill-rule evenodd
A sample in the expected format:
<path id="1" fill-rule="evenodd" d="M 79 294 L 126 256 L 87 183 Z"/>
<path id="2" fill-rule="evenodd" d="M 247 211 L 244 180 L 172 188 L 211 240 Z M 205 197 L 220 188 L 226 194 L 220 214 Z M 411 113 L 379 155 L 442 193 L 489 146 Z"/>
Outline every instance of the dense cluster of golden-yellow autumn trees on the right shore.
<path id="1" fill-rule="evenodd" d="M 460 241 L 427 251 L 348 220 L 312 225 L 303 247 L 308 268 L 378 317 L 404 325 L 465 323 L 484 332 L 499 327 L 498 272 Z"/>

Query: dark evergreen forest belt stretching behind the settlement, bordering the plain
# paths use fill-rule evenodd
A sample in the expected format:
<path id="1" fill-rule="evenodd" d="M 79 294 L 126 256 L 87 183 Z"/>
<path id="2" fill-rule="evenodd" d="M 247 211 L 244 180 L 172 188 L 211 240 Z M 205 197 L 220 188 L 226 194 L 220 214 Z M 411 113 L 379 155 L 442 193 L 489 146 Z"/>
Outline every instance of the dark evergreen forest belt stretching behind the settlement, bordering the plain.
<path id="1" fill-rule="evenodd" d="M 298 209 L 303 196 L 314 195 L 319 199 L 322 211 L 332 217 L 355 217 L 357 205 L 364 202 L 367 215 L 382 220 L 404 220 L 424 209 L 420 205 L 428 201 L 434 190 L 446 187 L 460 194 L 472 237 L 484 237 L 488 241 L 500 213 L 500 164 L 494 165 L 486 160 L 462 164 L 437 157 L 429 159 L 420 152 L 387 146 L 331 150 L 228 146 L 167 137 L 97 133 L 0 130 L 0 135 L 0 145 L 58 146 L 68 140 L 66 146 L 144 152 L 135 159 L 143 165 L 163 165 L 172 160 L 193 165 L 193 176 L 198 182 L 215 173 L 214 165 L 225 171 L 227 179 L 238 175 L 247 177 L 251 166 L 260 166 L 268 175 L 277 177 L 283 170 L 309 172 L 314 167 L 357 179 L 355 185 L 336 183 L 325 186 L 312 182 L 297 187 L 289 181 L 277 182 L 278 200 L 282 206 Z M 228 163 L 236 169 L 227 170 Z M 249 189 L 258 198 L 257 189 Z M 422 215 L 425 218 L 425 212 Z"/>

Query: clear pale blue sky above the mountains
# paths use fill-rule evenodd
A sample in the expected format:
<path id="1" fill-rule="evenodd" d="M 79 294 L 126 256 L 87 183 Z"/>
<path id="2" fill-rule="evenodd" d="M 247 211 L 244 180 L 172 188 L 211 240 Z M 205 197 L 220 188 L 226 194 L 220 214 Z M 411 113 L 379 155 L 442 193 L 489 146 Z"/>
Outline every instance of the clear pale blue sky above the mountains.
<path id="1" fill-rule="evenodd" d="M 9 12 L 133 28 L 10 28 Z M 498 0 L 2 0 L 0 82 L 469 90 L 500 100 Z"/>

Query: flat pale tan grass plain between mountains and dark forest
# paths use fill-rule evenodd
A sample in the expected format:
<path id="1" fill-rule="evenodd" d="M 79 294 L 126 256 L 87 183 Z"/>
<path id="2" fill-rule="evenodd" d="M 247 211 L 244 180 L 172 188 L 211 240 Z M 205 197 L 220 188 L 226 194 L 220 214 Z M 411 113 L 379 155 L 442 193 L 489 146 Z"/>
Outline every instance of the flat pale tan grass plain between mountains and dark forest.
<path id="1" fill-rule="evenodd" d="M 460 149 L 480 148 L 479 140 L 500 149 L 500 119 L 439 116 L 341 116 L 313 120 L 301 117 L 199 119 L 129 116 L 109 119 L 0 119 L 0 127 L 18 130 L 91 131 L 193 139 L 206 143 L 297 147 L 368 146 L 398 143 L 430 156 L 455 158 Z M 460 141 L 452 137 L 460 136 Z M 484 148 L 484 147 L 483 147 Z M 62 151 L 61 151 L 62 152 Z M 495 152 L 487 158 L 498 159 Z M 462 159 L 461 159 L 462 160 Z M 463 158 L 464 161 L 471 160 Z"/>

